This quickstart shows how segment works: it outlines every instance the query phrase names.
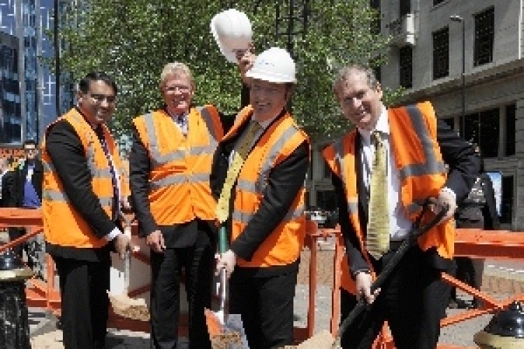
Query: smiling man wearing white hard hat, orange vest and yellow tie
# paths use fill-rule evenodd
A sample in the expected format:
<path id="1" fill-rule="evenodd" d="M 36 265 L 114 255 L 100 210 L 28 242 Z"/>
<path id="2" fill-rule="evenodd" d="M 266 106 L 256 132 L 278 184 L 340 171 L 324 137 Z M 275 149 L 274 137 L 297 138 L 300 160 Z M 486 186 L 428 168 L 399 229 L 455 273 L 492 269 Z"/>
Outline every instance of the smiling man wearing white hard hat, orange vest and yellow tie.
<path id="1" fill-rule="evenodd" d="M 272 47 L 246 73 L 250 102 L 215 151 L 211 187 L 230 248 L 217 271 L 230 276 L 230 313 L 249 348 L 293 344 L 293 297 L 305 237 L 304 181 L 310 140 L 286 110 L 295 62 Z"/>

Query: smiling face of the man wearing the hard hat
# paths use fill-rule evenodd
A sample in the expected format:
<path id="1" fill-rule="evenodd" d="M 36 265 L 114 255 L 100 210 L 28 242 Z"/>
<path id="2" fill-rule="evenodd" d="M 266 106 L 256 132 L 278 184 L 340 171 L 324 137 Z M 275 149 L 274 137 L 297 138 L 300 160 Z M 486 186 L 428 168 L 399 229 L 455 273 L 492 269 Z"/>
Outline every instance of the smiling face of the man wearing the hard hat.
<path id="1" fill-rule="evenodd" d="M 267 121 L 276 117 L 286 107 L 291 88 L 289 84 L 253 79 L 249 98 L 256 121 Z"/>

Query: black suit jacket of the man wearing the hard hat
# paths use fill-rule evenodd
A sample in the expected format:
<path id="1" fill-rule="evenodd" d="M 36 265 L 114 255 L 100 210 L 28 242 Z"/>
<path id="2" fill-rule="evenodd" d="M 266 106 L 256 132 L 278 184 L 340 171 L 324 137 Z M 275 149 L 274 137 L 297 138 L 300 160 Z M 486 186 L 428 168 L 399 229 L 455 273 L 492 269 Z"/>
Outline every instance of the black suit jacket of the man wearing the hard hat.
<path id="1" fill-rule="evenodd" d="M 284 112 L 279 117 L 283 115 Z M 235 143 L 248 124 L 249 119 L 241 126 L 239 132 L 233 138 L 220 142 L 217 151 L 214 153 L 211 189 L 214 197 L 217 199 L 222 186 L 224 186 L 231 151 L 233 151 Z M 268 128 L 264 132 L 268 131 Z M 251 260 L 259 246 L 282 222 L 298 191 L 304 184 L 310 163 L 309 149 L 309 142 L 303 142 L 286 160 L 272 169 L 268 176 L 268 186 L 265 188 L 258 211 L 255 212 L 244 232 L 230 246 L 236 255 L 245 260 Z M 234 193 L 234 187 L 232 192 Z M 232 195 L 230 206 L 233 204 L 233 200 Z"/>

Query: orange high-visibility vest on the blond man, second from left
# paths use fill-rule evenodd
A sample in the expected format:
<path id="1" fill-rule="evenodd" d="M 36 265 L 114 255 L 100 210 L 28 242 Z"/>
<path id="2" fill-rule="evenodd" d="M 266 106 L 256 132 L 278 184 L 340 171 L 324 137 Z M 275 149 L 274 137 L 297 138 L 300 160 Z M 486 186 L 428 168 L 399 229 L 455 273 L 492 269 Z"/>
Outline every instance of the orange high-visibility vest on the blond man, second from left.
<path id="1" fill-rule="evenodd" d="M 224 131 L 213 105 L 191 108 L 188 117 L 185 137 L 164 110 L 133 119 L 150 156 L 149 201 L 159 225 L 215 218 L 209 177 L 214 149 Z"/>

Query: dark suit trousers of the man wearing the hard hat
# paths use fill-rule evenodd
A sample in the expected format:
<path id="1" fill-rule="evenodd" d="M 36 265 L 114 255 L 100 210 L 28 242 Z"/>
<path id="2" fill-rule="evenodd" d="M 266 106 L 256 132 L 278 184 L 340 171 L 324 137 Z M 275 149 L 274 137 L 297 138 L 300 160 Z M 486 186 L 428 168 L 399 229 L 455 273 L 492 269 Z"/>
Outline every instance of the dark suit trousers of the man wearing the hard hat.
<path id="1" fill-rule="evenodd" d="M 229 313 L 240 314 L 249 348 L 293 344 L 293 297 L 298 272 L 268 277 L 235 277 L 229 283 Z"/>

